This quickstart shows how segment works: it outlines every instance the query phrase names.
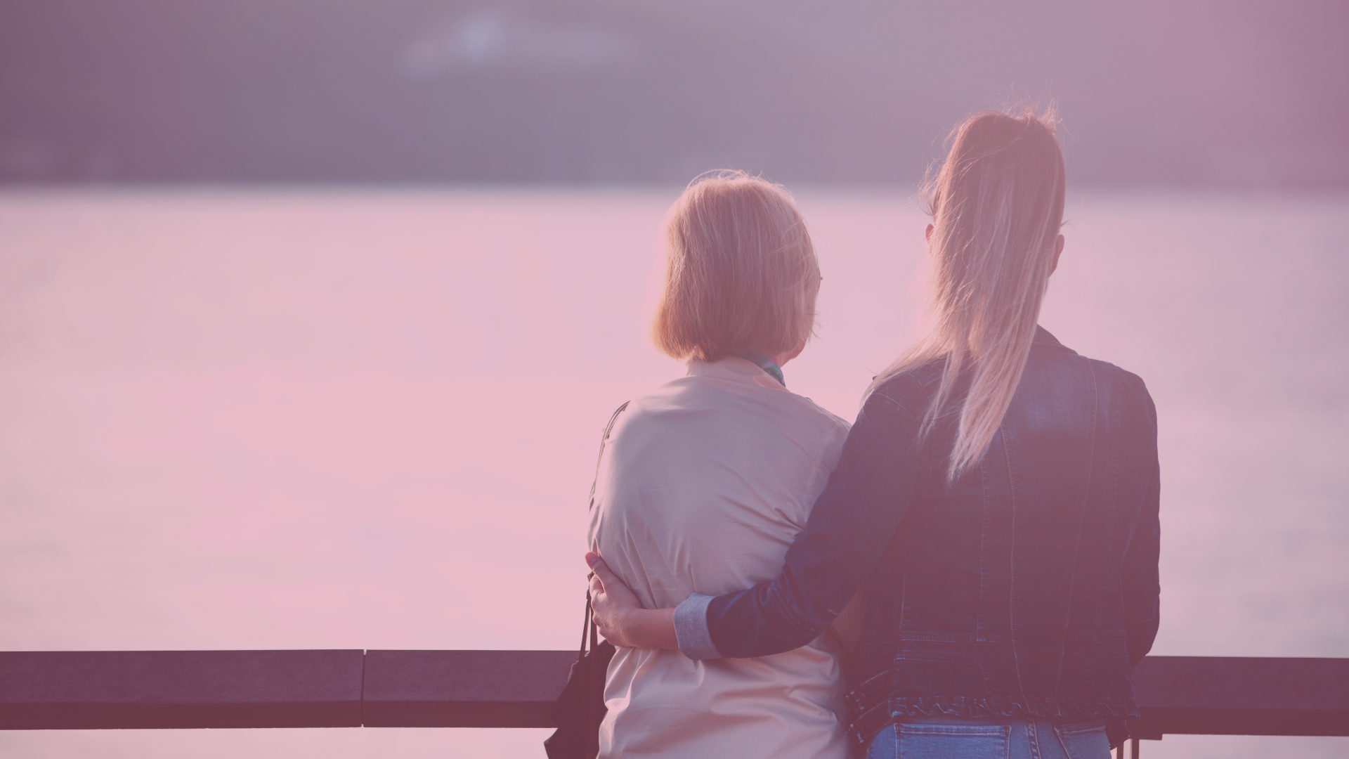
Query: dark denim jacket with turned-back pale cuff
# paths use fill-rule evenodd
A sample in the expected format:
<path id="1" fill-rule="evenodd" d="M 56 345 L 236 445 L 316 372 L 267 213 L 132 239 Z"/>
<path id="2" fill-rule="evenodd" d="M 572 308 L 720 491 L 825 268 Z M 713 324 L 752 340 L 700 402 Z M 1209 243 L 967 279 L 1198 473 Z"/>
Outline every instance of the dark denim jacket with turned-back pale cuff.
<path id="1" fill-rule="evenodd" d="M 993 444 L 948 486 L 955 420 L 917 444 L 939 378 L 927 366 L 867 398 L 782 574 L 685 601 L 681 650 L 796 648 L 861 587 L 847 698 L 862 744 L 913 714 L 1136 716 L 1130 670 L 1152 647 L 1160 592 L 1143 381 L 1037 330 Z"/>

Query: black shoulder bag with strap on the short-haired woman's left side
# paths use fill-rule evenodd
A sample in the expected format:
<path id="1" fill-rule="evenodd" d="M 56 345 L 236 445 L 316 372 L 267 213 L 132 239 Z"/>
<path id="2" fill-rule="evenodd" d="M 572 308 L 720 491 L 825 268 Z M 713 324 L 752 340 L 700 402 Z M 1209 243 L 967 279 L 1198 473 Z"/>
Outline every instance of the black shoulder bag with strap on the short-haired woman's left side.
<path id="1" fill-rule="evenodd" d="M 623 413 L 627 404 L 618 407 L 614 416 L 608 417 L 604 427 L 604 436 L 599 440 L 599 459 L 595 462 L 595 478 L 599 479 L 599 465 L 604 461 L 604 444 L 608 434 L 618 421 L 618 415 Z M 591 483 L 591 504 L 595 508 L 595 483 Z M 590 651 L 585 650 L 587 637 Z M 608 662 L 614 658 L 614 644 L 600 643 L 599 628 L 590 606 L 590 589 L 585 589 L 585 621 L 581 624 L 581 650 L 572 664 L 571 674 L 567 675 L 567 686 L 561 696 L 548 712 L 553 717 L 557 731 L 544 741 L 548 759 L 595 759 L 599 754 L 599 724 L 604 720 L 608 708 L 604 706 L 604 678 L 608 674 Z"/>

